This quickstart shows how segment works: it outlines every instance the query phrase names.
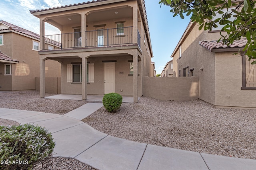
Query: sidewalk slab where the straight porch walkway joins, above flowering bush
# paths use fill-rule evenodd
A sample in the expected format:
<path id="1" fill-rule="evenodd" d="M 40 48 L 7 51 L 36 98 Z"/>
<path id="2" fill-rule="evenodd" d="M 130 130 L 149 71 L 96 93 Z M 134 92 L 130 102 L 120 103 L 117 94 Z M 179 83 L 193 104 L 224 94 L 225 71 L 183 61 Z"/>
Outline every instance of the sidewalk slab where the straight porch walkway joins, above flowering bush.
<path id="1" fill-rule="evenodd" d="M 82 121 L 79 121 L 78 119 L 74 119 L 72 117 L 62 116 L 62 117 L 56 117 L 54 119 L 44 120 L 44 121 L 38 121 L 35 123 L 30 123 L 38 126 L 45 127 L 48 129 L 51 133 L 67 129 L 69 127 L 73 127 L 76 125 L 82 124 Z"/>

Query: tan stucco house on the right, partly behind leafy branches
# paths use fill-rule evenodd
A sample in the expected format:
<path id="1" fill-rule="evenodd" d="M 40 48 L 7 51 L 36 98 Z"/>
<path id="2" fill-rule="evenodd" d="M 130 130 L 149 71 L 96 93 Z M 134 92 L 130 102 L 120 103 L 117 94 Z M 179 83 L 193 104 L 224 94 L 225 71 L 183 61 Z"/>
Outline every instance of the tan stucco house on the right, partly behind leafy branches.
<path id="1" fill-rule="evenodd" d="M 246 39 L 222 45 L 221 27 L 211 32 L 198 27 L 189 23 L 171 55 L 174 76 L 198 76 L 199 98 L 214 106 L 256 107 L 256 69 L 242 51 Z"/>

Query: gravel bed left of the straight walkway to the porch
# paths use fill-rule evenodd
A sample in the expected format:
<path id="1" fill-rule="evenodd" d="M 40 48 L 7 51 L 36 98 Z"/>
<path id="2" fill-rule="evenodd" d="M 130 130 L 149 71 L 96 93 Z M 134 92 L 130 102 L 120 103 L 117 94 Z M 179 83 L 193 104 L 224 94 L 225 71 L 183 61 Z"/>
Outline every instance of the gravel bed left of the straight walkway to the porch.
<path id="1" fill-rule="evenodd" d="M 52 96 L 56 94 L 46 94 Z M 39 97 L 38 91 L 14 91 L 0 93 L 0 107 L 56 113 L 64 115 L 87 102 L 81 100 L 58 100 Z"/>

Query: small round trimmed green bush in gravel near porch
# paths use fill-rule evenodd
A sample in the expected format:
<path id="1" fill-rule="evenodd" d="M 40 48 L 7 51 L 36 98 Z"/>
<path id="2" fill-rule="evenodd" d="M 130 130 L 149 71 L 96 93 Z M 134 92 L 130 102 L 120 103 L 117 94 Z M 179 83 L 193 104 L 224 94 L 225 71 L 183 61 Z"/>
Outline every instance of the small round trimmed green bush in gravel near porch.
<path id="1" fill-rule="evenodd" d="M 117 93 L 105 94 L 103 97 L 103 106 L 108 112 L 116 112 L 122 104 L 122 96 Z"/>

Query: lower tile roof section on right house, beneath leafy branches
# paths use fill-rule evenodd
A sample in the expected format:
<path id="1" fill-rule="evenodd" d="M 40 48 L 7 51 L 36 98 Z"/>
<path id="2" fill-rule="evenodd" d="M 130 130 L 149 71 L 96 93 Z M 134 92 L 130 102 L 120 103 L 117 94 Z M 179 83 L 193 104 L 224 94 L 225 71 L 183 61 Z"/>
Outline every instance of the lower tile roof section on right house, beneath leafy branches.
<path id="1" fill-rule="evenodd" d="M 199 44 L 202 47 L 205 47 L 209 51 L 212 51 L 213 49 L 227 49 L 227 48 L 239 48 L 239 47 L 245 47 L 247 43 L 247 39 L 240 39 L 235 40 L 233 44 L 231 45 L 224 45 L 222 42 L 216 41 L 199 41 Z"/>

